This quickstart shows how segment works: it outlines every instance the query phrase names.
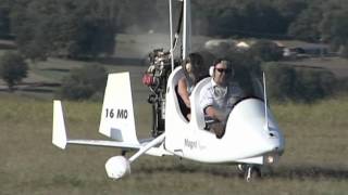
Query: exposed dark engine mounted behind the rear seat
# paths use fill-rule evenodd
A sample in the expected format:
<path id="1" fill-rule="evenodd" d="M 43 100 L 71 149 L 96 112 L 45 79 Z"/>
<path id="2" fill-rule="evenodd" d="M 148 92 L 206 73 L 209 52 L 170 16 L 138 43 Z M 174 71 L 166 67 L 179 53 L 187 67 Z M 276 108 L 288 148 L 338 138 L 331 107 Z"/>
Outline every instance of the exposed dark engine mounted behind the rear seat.
<path id="1" fill-rule="evenodd" d="M 165 89 L 167 78 L 172 72 L 171 55 L 163 49 L 149 53 L 149 67 L 142 77 L 142 83 L 149 87 L 148 102 L 152 105 L 152 131 L 153 138 L 164 132 L 165 121 Z M 174 61 L 174 66 L 181 61 Z"/>

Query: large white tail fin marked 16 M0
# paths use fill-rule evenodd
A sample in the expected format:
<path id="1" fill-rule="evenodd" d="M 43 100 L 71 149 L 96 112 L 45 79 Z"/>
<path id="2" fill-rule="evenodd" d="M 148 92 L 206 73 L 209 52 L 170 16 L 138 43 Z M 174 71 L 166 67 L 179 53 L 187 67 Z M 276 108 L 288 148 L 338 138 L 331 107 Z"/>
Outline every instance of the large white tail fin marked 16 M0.
<path id="1" fill-rule="evenodd" d="M 99 132 L 120 142 L 139 144 L 135 130 L 129 73 L 109 74 Z"/>

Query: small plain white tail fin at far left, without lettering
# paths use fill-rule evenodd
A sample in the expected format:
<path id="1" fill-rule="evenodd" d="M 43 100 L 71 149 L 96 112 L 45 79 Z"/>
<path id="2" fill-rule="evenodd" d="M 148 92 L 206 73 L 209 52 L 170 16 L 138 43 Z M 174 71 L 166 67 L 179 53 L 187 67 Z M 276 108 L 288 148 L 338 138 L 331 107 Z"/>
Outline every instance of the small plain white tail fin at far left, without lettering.
<path id="1" fill-rule="evenodd" d="M 66 130 L 61 101 L 53 101 L 53 133 L 52 143 L 64 150 L 66 146 Z"/>

